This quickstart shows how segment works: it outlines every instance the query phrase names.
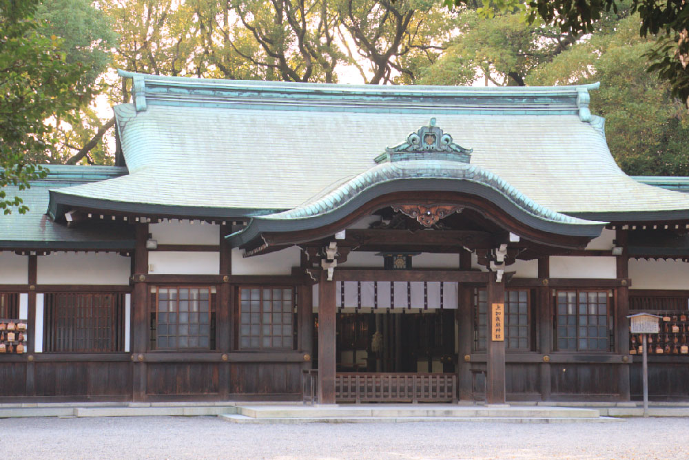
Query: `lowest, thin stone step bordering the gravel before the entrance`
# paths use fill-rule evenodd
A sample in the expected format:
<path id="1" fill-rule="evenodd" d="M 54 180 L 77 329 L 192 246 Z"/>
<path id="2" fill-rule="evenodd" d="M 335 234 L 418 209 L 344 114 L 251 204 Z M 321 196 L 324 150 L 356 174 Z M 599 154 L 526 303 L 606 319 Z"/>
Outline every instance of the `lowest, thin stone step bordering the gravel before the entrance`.
<path id="1" fill-rule="evenodd" d="M 220 419 L 234 424 L 404 424 L 418 422 L 472 422 L 504 424 L 563 424 L 563 423 L 611 423 L 624 421 L 613 417 L 289 417 L 254 418 L 246 415 L 219 415 Z"/>

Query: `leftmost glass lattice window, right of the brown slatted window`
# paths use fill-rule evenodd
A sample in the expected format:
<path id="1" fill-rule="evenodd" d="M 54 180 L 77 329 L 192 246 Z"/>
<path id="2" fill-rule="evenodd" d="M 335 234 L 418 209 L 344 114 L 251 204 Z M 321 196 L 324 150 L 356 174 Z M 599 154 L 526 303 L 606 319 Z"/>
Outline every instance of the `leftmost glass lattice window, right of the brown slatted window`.
<path id="1" fill-rule="evenodd" d="M 158 286 L 152 295 L 152 348 L 215 349 L 214 288 Z"/>

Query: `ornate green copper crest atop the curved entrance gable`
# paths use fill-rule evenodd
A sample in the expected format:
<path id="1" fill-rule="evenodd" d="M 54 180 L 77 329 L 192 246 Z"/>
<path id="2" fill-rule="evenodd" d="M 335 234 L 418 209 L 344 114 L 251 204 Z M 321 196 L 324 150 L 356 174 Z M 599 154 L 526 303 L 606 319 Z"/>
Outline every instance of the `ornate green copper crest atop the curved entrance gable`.
<path id="1" fill-rule="evenodd" d="M 395 147 L 386 147 L 385 153 L 376 157 L 376 163 L 403 160 L 450 160 L 469 163 L 473 149 L 465 149 L 452 141 L 431 118 L 428 126 L 420 127 L 407 136 L 407 140 Z"/>

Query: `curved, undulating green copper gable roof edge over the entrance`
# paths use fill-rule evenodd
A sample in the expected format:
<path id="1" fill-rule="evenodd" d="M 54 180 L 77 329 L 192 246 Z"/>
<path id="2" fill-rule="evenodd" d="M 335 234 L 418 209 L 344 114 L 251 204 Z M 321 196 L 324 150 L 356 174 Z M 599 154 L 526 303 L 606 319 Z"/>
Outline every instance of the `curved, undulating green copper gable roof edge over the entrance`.
<path id="1" fill-rule="evenodd" d="M 447 160 L 406 160 L 382 163 L 319 194 L 300 207 L 258 216 L 229 236 L 233 246 L 260 233 L 304 231 L 325 227 L 362 204 L 397 191 L 443 191 L 480 196 L 534 229 L 565 236 L 599 236 L 607 222 L 566 216 L 538 205 L 505 180 L 481 167 Z"/>

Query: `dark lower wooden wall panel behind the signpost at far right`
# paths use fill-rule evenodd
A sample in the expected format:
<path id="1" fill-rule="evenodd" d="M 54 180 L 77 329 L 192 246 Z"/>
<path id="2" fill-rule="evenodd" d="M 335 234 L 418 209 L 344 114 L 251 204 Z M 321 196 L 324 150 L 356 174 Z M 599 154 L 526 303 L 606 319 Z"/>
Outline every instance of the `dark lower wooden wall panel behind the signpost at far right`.
<path id="1" fill-rule="evenodd" d="M 642 399 L 641 363 L 630 366 L 631 398 Z M 688 363 L 648 363 L 648 399 L 650 401 L 689 400 Z"/>

